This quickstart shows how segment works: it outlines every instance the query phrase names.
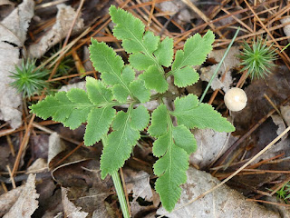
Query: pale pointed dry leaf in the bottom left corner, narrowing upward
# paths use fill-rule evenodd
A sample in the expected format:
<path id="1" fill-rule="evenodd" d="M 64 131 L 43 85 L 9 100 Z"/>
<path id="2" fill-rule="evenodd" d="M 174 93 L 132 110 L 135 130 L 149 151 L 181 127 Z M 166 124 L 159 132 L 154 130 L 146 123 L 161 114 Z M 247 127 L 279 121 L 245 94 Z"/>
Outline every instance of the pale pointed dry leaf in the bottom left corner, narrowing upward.
<path id="1" fill-rule="evenodd" d="M 38 208 L 39 194 L 35 190 L 36 174 L 29 174 L 25 187 L 4 218 L 30 218 Z"/>

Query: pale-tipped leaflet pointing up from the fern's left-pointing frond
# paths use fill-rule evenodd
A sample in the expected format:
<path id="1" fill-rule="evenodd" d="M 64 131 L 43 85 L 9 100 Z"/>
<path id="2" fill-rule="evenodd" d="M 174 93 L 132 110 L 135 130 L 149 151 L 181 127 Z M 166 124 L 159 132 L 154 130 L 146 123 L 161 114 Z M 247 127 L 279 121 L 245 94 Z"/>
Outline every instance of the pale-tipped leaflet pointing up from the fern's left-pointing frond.
<path id="1" fill-rule="evenodd" d="M 98 105 L 111 102 L 111 90 L 106 88 L 102 81 L 96 80 L 91 76 L 87 76 L 85 79 L 88 96 L 93 104 Z"/>

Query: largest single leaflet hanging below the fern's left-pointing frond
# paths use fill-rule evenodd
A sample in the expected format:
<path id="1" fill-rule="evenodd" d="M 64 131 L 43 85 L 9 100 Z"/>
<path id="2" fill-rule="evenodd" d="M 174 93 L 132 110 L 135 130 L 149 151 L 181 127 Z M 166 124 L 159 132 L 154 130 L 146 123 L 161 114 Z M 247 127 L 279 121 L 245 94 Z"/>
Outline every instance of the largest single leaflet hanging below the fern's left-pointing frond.
<path id="1" fill-rule="evenodd" d="M 84 134 L 84 144 L 90 146 L 100 141 L 104 134 L 107 134 L 112 119 L 116 111 L 107 106 L 102 108 L 93 108 L 88 115 L 88 124 Z"/>

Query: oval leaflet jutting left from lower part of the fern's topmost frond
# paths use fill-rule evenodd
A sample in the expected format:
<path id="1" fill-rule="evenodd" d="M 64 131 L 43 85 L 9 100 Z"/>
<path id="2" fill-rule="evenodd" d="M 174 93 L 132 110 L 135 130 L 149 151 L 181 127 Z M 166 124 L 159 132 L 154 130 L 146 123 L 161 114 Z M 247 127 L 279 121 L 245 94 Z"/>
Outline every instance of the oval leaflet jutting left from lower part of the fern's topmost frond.
<path id="1" fill-rule="evenodd" d="M 154 59 L 142 53 L 131 54 L 129 62 L 137 70 L 146 70 L 150 65 L 155 64 Z"/>

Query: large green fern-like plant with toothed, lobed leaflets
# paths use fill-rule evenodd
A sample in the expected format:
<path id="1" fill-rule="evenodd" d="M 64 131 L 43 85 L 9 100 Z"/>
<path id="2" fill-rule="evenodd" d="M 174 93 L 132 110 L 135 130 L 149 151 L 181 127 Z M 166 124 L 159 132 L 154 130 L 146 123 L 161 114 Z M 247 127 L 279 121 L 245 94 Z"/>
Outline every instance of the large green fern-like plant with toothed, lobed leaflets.
<path id="1" fill-rule="evenodd" d="M 178 97 L 175 109 L 162 104 L 163 94 L 169 89 L 167 77 L 174 77 L 174 84 L 185 87 L 198 81 L 193 65 L 202 64 L 212 49 L 214 35 L 194 35 L 179 50 L 173 61 L 173 40 L 160 37 L 126 11 L 110 7 L 111 20 L 116 25 L 113 35 L 122 41 L 122 47 L 130 54 L 130 64 L 124 64 L 121 56 L 111 47 L 92 39 L 90 46 L 94 68 L 102 80 L 86 77 L 86 91 L 72 89 L 65 93 L 47 96 L 30 108 L 32 113 L 61 122 L 75 129 L 87 122 L 84 144 L 92 145 L 103 140 L 101 157 L 102 178 L 114 174 L 131 156 L 132 148 L 140 139 L 140 131 L 149 126 L 148 133 L 156 138 L 153 154 L 159 158 L 154 164 L 154 173 L 159 176 L 155 183 L 163 206 L 170 212 L 179 200 L 180 184 L 187 180 L 189 154 L 197 143 L 190 129 L 212 128 L 216 131 L 232 132 L 234 126 L 218 114 L 209 104 L 200 104 L 194 94 Z M 164 67 L 170 67 L 165 73 Z M 136 78 L 135 70 L 142 71 Z M 155 90 L 159 94 L 151 95 Z M 152 99 L 160 100 L 160 106 L 151 114 L 140 103 Z M 116 112 L 114 106 L 129 104 L 126 112 Z M 138 105 L 139 106 L 138 106 Z M 176 117 L 177 125 L 172 118 Z M 149 124 L 150 123 L 150 124 Z M 112 132 L 108 134 L 109 128 Z M 108 136 L 106 136 L 108 135 Z"/>

